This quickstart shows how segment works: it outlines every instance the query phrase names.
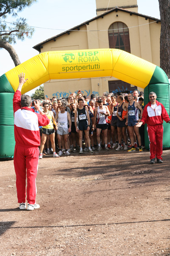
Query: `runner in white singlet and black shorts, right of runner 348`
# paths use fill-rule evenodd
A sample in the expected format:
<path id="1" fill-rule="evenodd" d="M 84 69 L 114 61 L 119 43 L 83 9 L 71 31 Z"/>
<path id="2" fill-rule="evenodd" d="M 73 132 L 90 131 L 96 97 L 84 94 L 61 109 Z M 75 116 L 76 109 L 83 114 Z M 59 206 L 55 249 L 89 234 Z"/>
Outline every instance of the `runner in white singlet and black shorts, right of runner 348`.
<path id="1" fill-rule="evenodd" d="M 110 116 L 109 110 L 107 106 L 103 106 L 102 99 L 98 99 L 98 105 L 95 109 L 94 115 L 94 129 L 97 129 L 97 142 L 98 142 L 98 149 L 100 151 L 102 149 L 100 145 L 100 133 L 103 130 L 104 137 L 105 137 L 105 150 L 109 150 L 108 148 L 108 116 Z M 97 117 L 97 125 L 96 125 L 96 117 Z"/>

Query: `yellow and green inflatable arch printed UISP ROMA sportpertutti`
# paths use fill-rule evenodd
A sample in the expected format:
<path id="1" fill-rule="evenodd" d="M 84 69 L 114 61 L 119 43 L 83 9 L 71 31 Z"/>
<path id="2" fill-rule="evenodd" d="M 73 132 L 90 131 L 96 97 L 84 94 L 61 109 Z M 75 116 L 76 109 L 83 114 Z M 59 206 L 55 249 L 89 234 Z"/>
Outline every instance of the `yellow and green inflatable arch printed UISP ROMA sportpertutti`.
<path id="1" fill-rule="evenodd" d="M 22 94 L 51 79 L 115 77 L 145 88 L 144 105 L 150 91 L 170 113 L 169 80 L 164 71 L 141 58 L 119 49 L 86 49 L 43 52 L 0 77 L 0 157 L 14 155 L 14 113 L 12 99 L 18 87 L 18 74 L 26 73 L 28 81 Z M 164 125 L 164 147 L 170 147 L 170 126 Z M 146 141 L 148 148 L 148 141 Z"/>

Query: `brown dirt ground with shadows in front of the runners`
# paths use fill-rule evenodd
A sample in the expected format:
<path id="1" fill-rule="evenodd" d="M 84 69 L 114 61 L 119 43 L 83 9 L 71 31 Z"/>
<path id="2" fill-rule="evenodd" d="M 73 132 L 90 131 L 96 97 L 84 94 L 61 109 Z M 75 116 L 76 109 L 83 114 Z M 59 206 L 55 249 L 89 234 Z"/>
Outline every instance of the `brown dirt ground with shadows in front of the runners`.
<path id="1" fill-rule="evenodd" d="M 37 203 L 19 210 L 0 162 L 0 256 L 170 255 L 170 151 L 72 153 L 39 161 Z"/>

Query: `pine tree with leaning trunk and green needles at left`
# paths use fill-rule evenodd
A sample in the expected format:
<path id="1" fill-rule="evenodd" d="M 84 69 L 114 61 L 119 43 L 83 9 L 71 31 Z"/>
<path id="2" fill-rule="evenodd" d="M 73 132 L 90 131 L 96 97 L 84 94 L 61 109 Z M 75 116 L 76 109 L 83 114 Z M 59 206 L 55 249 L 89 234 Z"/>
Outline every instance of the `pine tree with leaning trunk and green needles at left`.
<path id="1" fill-rule="evenodd" d="M 15 66 L 20 64 L 17 52 L 11 46 L 16 44 L 16 39 L 24 40 L 25 36 L 31 38 L 34 29 L 28 27 L 26 19 L 17 18 L 18 12 L 24 8 L 31 6 L 37 0 L 0 0 L 0 48 L 6 49 Z M 6 21 L 7 15 L 15 18 L 15 21 L 9 23 Z"/>

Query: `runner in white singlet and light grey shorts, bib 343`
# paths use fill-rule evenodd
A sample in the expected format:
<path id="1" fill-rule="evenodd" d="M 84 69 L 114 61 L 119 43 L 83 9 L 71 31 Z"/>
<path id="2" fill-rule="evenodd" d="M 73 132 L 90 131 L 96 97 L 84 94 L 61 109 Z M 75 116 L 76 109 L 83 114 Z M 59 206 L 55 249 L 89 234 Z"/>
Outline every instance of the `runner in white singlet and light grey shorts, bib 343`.
<path id="1" fill-rule="evenodd" d="M 62 141 L 62 135 L 64 138 L 64 144 L 65 144 L 65 155 L 69 156 L 70 153 L 68 152 L 68 133 L 71 132 L 71 118 L 70 114 L 65 111 L 65 104 L 62 104 L 60 106 L 60 111 L 56 113 L 55 120 L 58 119 L 58 129 L 57 129 L 57 139 L 58 139 L 58 146 L 59 146 L 59 156 L 62 155 L 62 149 L 61 149 L 61 141 Z M 69 128 L 68 128 L 68 122 L 69 122 Z"/>

